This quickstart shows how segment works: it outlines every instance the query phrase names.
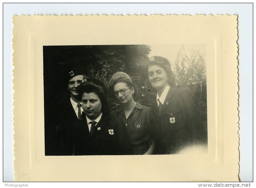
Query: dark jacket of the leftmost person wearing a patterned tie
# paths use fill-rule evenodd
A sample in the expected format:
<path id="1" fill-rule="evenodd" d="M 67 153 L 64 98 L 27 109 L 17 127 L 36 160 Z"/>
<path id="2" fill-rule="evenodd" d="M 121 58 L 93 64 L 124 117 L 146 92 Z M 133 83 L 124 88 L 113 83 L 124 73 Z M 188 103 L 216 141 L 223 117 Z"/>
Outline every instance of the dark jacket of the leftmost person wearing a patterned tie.
<path id="1" fill-rule="evenodd" d="M 52 109 L 51 122 L 45 126 L 46 155 L 72 155 L 70 127 L 79 122 L 70 98 Z"/>

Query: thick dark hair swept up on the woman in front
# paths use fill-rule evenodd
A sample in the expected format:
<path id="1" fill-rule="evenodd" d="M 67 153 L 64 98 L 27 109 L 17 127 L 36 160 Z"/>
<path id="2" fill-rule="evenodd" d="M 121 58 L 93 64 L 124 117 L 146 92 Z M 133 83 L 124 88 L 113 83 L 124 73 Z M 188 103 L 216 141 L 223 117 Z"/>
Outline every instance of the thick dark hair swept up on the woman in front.
<path id="1" fill-rule="evenodd" d="M 101 100 L 101 112 L 102 114 L 109 114 L 109 105 L 107 100 L 107 89 L 105 85 L 100 81 L 93 78 L 85 79 L 77 88 L 76 92 L 81 100 L 84 93 L 95 93 Z"/>

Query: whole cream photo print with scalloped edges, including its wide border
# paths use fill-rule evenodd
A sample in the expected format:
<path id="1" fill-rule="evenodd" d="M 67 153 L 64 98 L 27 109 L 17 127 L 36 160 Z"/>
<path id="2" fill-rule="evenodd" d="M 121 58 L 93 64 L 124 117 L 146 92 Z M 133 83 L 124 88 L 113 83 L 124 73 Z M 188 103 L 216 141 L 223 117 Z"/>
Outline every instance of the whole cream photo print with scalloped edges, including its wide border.
<path id="1" fill-rule="evenodd" d="M 237 16 L 13 23 L 15 181 L 239 180 Z"/>

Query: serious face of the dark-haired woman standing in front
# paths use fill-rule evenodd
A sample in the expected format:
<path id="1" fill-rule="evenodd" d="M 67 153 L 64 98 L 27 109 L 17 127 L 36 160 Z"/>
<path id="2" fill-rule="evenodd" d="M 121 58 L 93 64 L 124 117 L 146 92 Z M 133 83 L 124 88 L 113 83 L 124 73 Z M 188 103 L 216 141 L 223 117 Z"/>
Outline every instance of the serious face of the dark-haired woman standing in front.
<path id="1" fill-rule="evenodd" d="M 101 115 L 101 100 L 96 93 L 83 93 L 81 101 L 84 113 L 90 120 L 94 121 Z"/>

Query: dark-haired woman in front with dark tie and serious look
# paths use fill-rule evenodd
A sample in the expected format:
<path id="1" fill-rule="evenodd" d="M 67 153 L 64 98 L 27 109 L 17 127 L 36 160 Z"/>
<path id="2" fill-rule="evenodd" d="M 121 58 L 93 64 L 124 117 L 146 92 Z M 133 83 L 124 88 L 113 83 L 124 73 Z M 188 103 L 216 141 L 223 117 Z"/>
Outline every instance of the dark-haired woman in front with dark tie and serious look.
<path id="1" fill-rule="evenodd" d="M 107 91 L 96 79 L 86 79 L 77 87 L 83 114 L 71 127 L 73 155 L 115 154 L 115 130 L 110 125 Z"/>

